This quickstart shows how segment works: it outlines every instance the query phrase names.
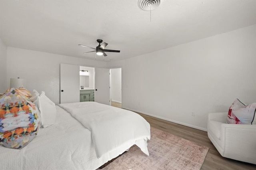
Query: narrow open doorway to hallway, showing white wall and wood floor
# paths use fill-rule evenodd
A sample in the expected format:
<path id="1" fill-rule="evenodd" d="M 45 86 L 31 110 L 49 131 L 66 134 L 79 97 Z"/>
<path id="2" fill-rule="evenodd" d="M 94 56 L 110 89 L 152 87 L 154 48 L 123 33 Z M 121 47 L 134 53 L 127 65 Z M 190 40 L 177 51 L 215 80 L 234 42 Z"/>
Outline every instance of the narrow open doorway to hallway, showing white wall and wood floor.
<path id="1" fill-rule="evenodd" d="M 111 106 L 122 108 L 122 69 L 110 69 Z"/>

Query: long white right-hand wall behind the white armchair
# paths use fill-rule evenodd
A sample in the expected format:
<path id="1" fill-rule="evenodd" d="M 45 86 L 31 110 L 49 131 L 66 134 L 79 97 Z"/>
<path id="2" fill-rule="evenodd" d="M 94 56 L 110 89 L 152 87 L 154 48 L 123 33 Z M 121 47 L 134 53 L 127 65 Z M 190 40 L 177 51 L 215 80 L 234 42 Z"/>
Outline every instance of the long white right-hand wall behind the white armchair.
<path id="1" fill-rule="evenodd" d="M 253 25 L 108 67 L 122 66 L 123 108 L 206 130 L 208 113 L 256 102 L 255 47 Z"/>

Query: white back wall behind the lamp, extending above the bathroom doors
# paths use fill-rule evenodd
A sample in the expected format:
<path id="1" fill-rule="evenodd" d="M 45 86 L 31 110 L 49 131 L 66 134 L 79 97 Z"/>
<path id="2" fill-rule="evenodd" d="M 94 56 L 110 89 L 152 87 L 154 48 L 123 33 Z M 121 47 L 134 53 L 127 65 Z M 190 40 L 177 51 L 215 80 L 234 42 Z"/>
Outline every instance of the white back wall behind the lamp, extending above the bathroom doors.
<path id="1" fill-rule="evenodd" d="M 7 80 L 26 79 L 26 88 L 45 91 L 54 103 L 60 103 L 60 63 L 106 67 L 106 62 L 40 51 L 7 47 Z M 8 82 L 8 86 L 10 82 Z"/>

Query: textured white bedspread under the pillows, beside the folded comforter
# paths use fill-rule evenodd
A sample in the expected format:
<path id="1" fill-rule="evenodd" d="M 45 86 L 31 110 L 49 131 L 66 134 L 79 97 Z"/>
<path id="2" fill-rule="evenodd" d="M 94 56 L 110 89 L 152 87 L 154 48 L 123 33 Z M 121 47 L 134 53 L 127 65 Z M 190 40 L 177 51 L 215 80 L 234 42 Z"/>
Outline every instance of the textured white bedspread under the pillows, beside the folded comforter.
<path id="1" fill-rule="evenodd" d="M 91 132 L 65 109 L 56 106 L 54 125 L 40 128 L 37 136 L 22 149 L 0 145 L 0 170 L 95 170 L 122 154 L 122 146 L 96 157 Z"/>

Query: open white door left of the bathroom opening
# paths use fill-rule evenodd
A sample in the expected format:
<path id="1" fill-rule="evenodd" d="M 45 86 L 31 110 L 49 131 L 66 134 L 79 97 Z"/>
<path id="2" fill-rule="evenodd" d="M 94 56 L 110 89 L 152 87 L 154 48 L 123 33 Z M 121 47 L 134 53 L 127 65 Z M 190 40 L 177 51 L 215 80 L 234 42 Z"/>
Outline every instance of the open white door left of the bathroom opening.
<path id="1" fill-rule="evenodd" d="M 80 102 L 79 65 L 60 64 L 60 103 Z"/>

